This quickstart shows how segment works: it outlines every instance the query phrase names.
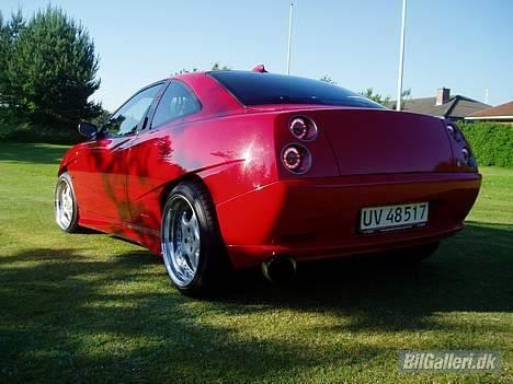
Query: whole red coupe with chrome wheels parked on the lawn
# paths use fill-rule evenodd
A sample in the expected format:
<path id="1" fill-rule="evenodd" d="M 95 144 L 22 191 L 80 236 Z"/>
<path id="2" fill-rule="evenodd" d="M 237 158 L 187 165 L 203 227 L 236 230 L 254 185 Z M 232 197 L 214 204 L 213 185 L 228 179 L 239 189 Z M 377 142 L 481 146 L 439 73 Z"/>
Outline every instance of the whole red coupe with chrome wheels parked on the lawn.
<path id="1" fill-rule="evenodd" d="M 60 164 L 57 223 L 162 255 L 187 294 L 230 267 L 273 277 L 355 254 L 424 258 L 463 228 L 481 184 L 453 123 L 262 67 L 159 81 L 79 130 L 89 140 Z"/>

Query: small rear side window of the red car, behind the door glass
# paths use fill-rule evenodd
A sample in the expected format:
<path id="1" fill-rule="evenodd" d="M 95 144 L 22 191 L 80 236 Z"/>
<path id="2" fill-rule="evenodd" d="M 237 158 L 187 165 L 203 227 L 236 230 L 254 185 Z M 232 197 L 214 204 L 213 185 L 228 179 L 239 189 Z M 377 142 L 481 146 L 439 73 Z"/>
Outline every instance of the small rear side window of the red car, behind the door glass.
<path id="1" fill-rule="evenodd" d="M 179 117 L 195 114 L 201 109 L 201 105 L 194 94 L 185 85 L 178 81 L 172 81 L 155 110 L 151 128 L 161 126 Z"/>

